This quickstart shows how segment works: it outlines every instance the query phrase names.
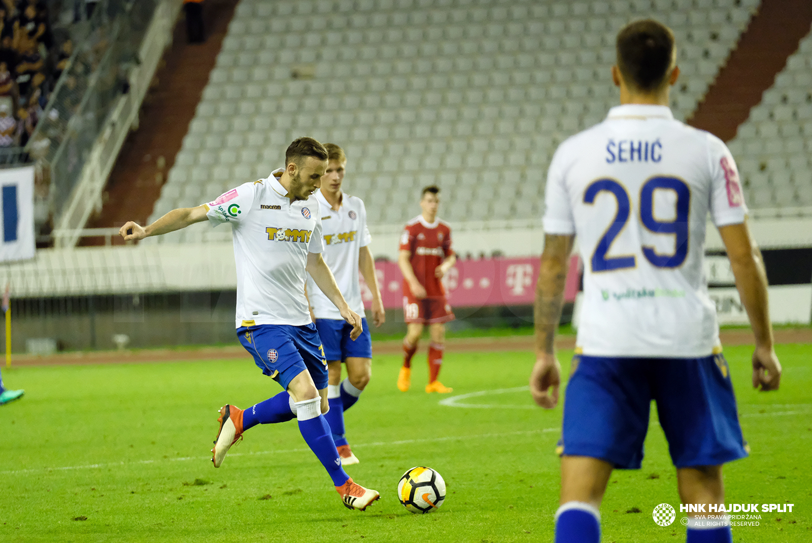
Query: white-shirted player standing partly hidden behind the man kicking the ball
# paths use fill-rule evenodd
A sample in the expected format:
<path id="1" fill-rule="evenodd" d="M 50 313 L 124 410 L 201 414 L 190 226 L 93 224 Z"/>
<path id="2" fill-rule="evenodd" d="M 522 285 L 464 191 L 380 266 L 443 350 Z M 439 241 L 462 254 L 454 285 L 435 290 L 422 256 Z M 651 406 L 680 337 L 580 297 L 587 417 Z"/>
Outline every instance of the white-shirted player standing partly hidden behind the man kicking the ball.
<path id="1" fill-rule="evenodd" d="M 327 170 L 322 177 L 322 187 L 313 195 L 322 210 L 322 235 L 325 248 L 324 261 L 335 275 L 339 291 L 350 308 L 364 314 L 361 300 L 361 286 L 358 269 L 372 292 L 372 316 L 376 326 L 386 320 L 383 310 L 378 278 L 375 276 L 375 262 L 369 252 L 372 237 L 366 227 L 366 208 L 361 198 L 341 191 L 341 183 L 347 167 L 347 156 L 336 144 L 325 144 L 327 149 Z M 308 278 L 307 292 L 313 320 L 327 359 L 329 381 L 327 402 L 330 411 L 325 418 L 330 424 L 333 441 L 338 447 L 341 463 L 358 463 L 356 455 L 344 436 L 344 412 L 355 405 L 361 392 L 369 383 L 372 373 L 372 338 L 366 319 L 361 319 L 363 331 L 355 340 L 351 337 L 352 325 L 343 320 L 339 309 L 330 301 L 313 278 Z M 341 363 L 347 366 L 347 378 L 341 381 Z"/>

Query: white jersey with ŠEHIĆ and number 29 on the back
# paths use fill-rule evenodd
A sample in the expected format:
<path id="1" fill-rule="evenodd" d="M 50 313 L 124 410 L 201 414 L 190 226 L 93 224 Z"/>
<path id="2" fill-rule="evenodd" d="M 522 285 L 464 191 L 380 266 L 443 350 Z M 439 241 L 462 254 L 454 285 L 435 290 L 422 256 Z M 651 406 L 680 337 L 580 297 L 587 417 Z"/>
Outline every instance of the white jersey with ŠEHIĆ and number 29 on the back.
<path id="1" fill-rule="evenodd" d="M 736 163 L 719 138 L 667 106 L 624 105 L 564 141 L 544 230 L 577 235 L 584 261 L 578 351 L 695 358 L 720 351 L 702 261 L 708 213 L 744 222 Z"/>

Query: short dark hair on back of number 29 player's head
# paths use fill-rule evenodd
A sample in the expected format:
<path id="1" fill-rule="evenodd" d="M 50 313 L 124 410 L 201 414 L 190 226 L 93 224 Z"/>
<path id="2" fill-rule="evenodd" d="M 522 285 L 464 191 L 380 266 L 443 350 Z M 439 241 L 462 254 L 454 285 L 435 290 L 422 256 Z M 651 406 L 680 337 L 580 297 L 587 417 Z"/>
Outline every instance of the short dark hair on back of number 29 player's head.
<path id="1" fill-rule="evenodd" d="M 654 19 L 627 24 L 617 35 L 617 67 L 626 84 L 652 92 L 666 83 L 674 58 L 674 33 Z"/>

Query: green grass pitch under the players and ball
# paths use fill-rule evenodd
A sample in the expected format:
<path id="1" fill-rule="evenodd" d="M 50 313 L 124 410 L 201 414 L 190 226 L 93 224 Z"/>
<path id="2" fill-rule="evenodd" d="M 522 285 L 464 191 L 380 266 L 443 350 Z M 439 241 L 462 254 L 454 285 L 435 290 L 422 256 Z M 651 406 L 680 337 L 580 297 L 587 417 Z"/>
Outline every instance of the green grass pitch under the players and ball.
<path id="1" fill-rule="evenodd" d="M 812 345 L 777 347 L 777 393 L 749 386 L 749 347 L 728 347 L 752 453 L 725 472 L 728 503 L 794 503 L 734 528 L 734 541 L 812 541 Z M 568 371 L 568 357 L 559 360 Z M 373 380 L 347 413 L 361 464 L 348 473 L 382 498 L 343 507 L 296 422 L 258 426 L 222 468 L 209 448 L 222 403 L 248 407 L 279 391 L 251 360 L 13 368 L 24 399 L 0 407 L 0 541 L 552 541 L 558 506 L 561 407 L 533 407 L 526 390 L 474 395 L 447 407 L 427 395 L 425 354 L 400 393 L 400 357 L 378 356 Z M 442 380 L 453 394 L 525 386 L 526 351 L 454 353 Z M 654 415 L 654 413 L 653 413 Z M 447 482 L 430 515 L 400 506 L 400 475 L 428 465 Z M 640 471 L 615 472 L 603 502 L 603 541 L 684 541 L 654 524 L 677 507 L 674 469 L 652 422 Z M 631 512 L 640 511 L 640 512 Z"/>

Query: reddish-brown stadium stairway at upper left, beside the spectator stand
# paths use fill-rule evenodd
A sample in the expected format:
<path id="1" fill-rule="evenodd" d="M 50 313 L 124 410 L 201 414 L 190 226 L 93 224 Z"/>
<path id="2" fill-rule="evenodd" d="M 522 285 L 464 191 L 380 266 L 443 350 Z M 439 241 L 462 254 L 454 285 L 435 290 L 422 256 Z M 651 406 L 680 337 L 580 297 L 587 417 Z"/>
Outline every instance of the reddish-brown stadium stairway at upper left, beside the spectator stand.
<path id="1" fill-rule="evenodd" d="M 141 107 L 139 127 L 127 136 L 107 182 L 102 211 L 87 227 L 121 226 L 127 220 L 144 224 L 153 212 L 238 2 L 205 2 L 206 41 L 202 44 L 187 42 L 185 19 L 183 15 L 179 17 L 172 45 L 166 49 L 156 73 L 155 86 Z M 84 238 L 80 245 L 104 243 L 102 238 Z M 123 241 L 114 238 L 113 243 Z"/>

